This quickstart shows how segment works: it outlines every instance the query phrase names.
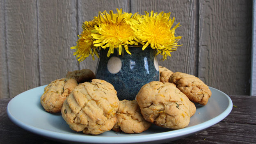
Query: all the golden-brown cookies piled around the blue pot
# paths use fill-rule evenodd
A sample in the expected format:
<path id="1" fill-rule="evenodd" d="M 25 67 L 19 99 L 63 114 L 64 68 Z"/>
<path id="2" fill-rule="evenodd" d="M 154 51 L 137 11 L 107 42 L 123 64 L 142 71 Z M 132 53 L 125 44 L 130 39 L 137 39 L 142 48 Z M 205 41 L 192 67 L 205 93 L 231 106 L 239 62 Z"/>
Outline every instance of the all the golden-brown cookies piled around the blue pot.
<path id="1" fill-rule="evenodd" d="M 66 78 L 46 86 L 41 105 L 47 112 L 61 112 L 77 132 L 98 135 L 112 129 L 142 133 L 152 123 L 171 129 L 186 127 L 196 112 L 191 101 L 206 105 L 210 95 L 210 89 L 193 75 L 160 66 L 160 81 L 144 85 L 136 100 L 119 101 L 113 85 L 83 69 L 68 72 Z"/>

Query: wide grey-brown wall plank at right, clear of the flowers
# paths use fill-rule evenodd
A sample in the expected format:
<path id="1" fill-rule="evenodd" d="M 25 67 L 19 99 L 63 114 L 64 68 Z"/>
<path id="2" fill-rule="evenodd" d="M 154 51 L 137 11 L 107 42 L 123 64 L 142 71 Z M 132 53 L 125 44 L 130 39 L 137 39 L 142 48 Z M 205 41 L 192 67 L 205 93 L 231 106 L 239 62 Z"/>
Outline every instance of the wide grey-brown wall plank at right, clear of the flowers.
<path id="1" fill-rule="evenodd" d="M 229 95 L 249 95 L 249 0 L 199 0 L 199 78 Z"/>

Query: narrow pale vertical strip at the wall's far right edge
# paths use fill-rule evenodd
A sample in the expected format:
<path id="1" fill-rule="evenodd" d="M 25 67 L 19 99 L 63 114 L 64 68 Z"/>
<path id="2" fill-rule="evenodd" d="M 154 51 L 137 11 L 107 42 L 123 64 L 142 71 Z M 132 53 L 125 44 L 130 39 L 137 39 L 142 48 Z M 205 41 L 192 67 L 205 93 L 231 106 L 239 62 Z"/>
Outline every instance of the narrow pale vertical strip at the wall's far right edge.
<path id="1" fill-rule="evenodd" d="M 253 0 L 251 47 L 251 96 L 256 96 L 256 0 Z"/>

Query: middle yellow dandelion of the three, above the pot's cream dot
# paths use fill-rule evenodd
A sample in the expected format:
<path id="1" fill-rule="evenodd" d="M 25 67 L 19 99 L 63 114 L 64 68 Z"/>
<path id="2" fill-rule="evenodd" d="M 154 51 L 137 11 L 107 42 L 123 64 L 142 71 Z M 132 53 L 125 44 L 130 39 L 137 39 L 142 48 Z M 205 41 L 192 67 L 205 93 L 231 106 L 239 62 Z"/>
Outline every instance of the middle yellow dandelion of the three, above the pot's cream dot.
<path id="1" fill-rule="evenodd" d="M 131 54 L 128 45 L 137 43 L 134 41 L 134 30 L 127 21 L 133 23 L 135 18 L 137 18 L 137 13 L 132 15 L 122 12 L 122 9 L 117 9 L 117 14 L 114 14 L 112 10 L 110 14 L 107 14 L 106 11 L 103 13 L 99 11 L 98 17 L 94 17 L 98 21 L 98 25 L 95 25 L 94 30 L 91 30 L 91 36 L 95 39 L 93 41 L 94 46 L 103 49 L 109 48 L 107 57 L 114 53 L 115 48 L 118 48 L 119 55 L 121 55 L 123 48 Z"/>

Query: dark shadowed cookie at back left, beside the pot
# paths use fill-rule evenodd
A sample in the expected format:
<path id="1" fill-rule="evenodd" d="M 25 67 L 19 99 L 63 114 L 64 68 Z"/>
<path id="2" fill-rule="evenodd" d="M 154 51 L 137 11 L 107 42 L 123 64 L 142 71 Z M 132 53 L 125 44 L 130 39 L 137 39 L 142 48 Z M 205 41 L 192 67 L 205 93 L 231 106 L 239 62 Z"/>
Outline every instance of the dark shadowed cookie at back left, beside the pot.
<path id="1" fill-rule="evenodd" d="M 94 73 L 90 69 L 82 69 L 77 71 L 68 71 L 66 78 L 74 78 L 78 83 L 91 82 L 95 78 Z"/>

